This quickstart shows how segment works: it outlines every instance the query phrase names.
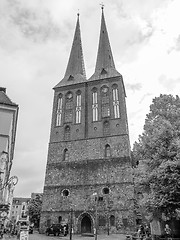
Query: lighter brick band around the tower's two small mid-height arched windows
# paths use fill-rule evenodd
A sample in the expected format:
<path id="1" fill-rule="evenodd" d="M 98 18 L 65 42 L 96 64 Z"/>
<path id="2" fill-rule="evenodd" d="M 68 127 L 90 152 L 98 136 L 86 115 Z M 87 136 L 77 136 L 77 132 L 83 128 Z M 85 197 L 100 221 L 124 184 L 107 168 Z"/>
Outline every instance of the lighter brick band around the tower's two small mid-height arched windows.
<path id="1" fill-rule="evenodd" d="M 93 138 L 79 141 L 63 141 L 59 143 L 50 143 L 48 153 L 48 163 L 62 162 L 63 151 L 68 149 L 68 161 L 83 161 L 88 159 L 103 159 L 105 157 L 105 146 L 109 144 L 111 148 L 111 157 L 130 156 L 128 135 L 115 137 Z"/>

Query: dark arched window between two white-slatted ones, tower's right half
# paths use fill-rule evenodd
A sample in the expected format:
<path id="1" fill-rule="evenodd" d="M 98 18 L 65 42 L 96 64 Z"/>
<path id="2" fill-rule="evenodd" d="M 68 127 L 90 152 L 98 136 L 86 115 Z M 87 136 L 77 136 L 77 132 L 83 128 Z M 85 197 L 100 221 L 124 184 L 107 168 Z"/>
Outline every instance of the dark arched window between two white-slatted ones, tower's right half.
<path id="1" fill-rule="evenodd" d="M 101 110 L 102 117 L 110 116 L 109 88 L 107 86 L 101 88 Z"/>

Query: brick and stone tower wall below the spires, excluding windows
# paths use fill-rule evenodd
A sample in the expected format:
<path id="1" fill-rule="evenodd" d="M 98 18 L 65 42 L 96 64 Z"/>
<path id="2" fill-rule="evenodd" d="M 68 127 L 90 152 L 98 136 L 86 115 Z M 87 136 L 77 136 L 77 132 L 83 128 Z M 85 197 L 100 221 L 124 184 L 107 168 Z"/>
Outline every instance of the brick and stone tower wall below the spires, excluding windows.
<path id="1" fill-rule="evenodd" d="M 112 85 L 119 89 L 120 118 L 113 117 Z M 101 117 L 100 91 L 102 86 L 110 91 L 108 118 Z M 98 92 L 98 121 L 92 121 L 92 89 Z M 75 96 L 82 94 L 82 121 L 69 123 L 70 139 L 64 140 L 64 128 L 55 126 L 56 105 L 59 93 L 63 99 L 68 91 Z M 75 99 L 73 100 L 75 104 Z M 64 111 L 64 110 L 63 110 Z M 74 111 L 74 110 L 73 110 Z M 109 134 L 104 135 L 104 121 L 109 122 Z M 106 156 L 106 146 L 110 154 Z M 65 150 L 68 157 L 65 158 Z M 48 220 L 57 223 L 60 218 L 70 222 L 73 218 L 75 233 L 81 232 L 82 219 L 88 216 L 91 232 L 95 227 L 97 210 L 98 231 L 127 232 L 134 227 L 134 185 L 130 161 L 130 142 L 126 115 L 125 91 L 121 77 L 65 86 L 55 90 L 51 135 L 46 167 L 41 231 L 45 231 Z M 105 193 L 104 189 L 109 193 Z M 65 196 L 64 191 L 68 192 Z M 94 194 L 97 194 L 95 199 Z M 108 223 L 107 219 L 114 218 Z M 109 220 L 110 221 L 110 220 Z"/>

